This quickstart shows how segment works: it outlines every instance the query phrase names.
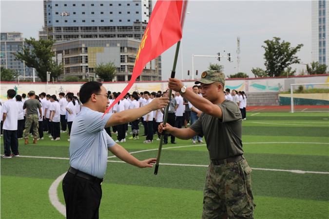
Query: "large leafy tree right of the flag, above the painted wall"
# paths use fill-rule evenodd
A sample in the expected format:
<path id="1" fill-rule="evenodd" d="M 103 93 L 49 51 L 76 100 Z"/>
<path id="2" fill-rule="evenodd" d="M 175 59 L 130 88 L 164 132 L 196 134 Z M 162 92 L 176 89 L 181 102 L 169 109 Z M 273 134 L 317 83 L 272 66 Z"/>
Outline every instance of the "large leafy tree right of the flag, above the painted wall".
<path id="1" fill-rule="evenodd" d="M 296 47 L 290 47 L 290 42 L 282 41 L 281 38 L 273 37 L 272 40 L 265 40 L 265 66 L 266 72 L 270 77 L 280 76 L 284 70 L 291 64 L 299 63 L 300 59 L 296 53 L 300 50 L 303 44 L 298 44 Z"/>

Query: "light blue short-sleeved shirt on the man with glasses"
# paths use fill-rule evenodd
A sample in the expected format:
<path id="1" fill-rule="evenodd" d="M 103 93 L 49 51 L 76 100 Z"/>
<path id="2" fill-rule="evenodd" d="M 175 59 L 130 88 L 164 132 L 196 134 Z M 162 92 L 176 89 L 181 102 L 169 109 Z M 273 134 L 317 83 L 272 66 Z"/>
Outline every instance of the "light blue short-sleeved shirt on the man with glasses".
<path id="1" fill-rule="evenodd" d="M 105 125 L 112 113 L 82 107 L 73 120 L 70 141 L 70 165 L 82 172 L 103 178 L 107 165 L 107 147 L 116 143 L 106 133 Z"/>

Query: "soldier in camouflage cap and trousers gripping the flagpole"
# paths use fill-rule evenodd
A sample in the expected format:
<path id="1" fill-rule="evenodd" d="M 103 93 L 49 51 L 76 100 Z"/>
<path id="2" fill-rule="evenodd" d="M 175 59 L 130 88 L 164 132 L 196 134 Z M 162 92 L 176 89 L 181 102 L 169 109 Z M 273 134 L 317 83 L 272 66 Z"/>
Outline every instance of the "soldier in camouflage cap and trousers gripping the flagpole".
<path id="1" fill-rule="evenodd" d="M 203 113 L 190 128 L 160 124 L 158 130 L 185 140 L 197 134 L 205 136 L 210 165 L 204 185 L 203 219 L 252 219 L 256 205 L 252 196 L 252 169 L 243 156 L 241 112 L 235 103 L 225 99 L 224 73 L 205 71 L 195 82 L 199 83 L 203 97 L 187 90 L 178 79 L 169 79 L 169 88 L 179 91 Z"/>

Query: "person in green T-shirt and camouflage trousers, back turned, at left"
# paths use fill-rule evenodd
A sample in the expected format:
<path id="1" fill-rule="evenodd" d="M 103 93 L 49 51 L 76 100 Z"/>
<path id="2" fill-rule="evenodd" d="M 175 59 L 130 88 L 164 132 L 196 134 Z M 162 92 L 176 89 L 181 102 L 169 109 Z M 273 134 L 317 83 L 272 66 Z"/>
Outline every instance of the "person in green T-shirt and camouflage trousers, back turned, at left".
<path id="1" fill-rule="evenodd" d="M 33 128 L 33 144 L 38 143 L 38 139 L 39 139 L 38 109 L 40 112 L 40 118 L 42 118 L 41 104 L 36 99 L 36 92 L 30 91 L 28 95 L 30 99 L 26 100 L 23 105 L 23 109 L 24 110 L 26 109 L 25 131 L 24 131 L 25 145 L 29 144 L 28 136 L 31 126 Z"/>

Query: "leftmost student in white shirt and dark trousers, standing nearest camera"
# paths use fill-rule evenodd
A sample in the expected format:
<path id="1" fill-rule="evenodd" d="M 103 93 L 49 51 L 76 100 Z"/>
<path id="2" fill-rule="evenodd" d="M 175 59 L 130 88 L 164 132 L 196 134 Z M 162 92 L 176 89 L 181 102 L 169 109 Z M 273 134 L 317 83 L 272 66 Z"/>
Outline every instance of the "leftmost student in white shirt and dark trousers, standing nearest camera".
<path id="1" fill-rule="evenodd" d="M 11 158 L 19 156 L 18 139 L 17 139 L 17 121 L 19 115 L 19 105 L 13 98 L 16 95 L 14 89 L 7 91 L 7 101 L 1 108 L 3 121 L 3 146 L 4 155 L 2 158 Z M 11 153 L 11 151 L 13 153 Z"/>

